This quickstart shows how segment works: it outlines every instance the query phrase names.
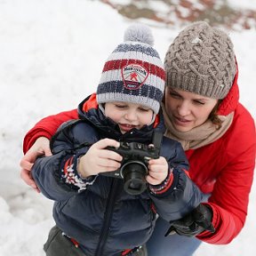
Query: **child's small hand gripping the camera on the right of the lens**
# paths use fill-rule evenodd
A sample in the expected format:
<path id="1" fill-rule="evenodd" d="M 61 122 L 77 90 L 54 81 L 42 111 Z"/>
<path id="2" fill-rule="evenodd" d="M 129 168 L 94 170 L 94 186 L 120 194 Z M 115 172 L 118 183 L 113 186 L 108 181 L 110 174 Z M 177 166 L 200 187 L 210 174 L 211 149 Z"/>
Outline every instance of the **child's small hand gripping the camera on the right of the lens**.
<path id="1" fill-rule="evenodd" d="M 168 175 L 168 164 L 163 156 L 148 161 L 148 175 L 146 180 L 151 185 L 161 184 Z"/>

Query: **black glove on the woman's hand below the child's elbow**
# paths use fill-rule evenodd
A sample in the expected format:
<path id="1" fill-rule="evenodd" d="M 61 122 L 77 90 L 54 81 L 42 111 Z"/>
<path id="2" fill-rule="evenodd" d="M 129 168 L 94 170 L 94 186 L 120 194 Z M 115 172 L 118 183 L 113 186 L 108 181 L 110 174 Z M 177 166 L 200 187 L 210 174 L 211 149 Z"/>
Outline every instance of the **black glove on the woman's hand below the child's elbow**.
<path id="1" fill-rule="evenodd" d="M 210 206 L 199 204 L 196 209 L 188 213 L 180 220 L 170 221 L 171 227 L 164 236 L 173 234 L 173 231 L 180 236 L 196 236 L 204 230 L 215 232 L 212 226 L 212 209 Z"/>

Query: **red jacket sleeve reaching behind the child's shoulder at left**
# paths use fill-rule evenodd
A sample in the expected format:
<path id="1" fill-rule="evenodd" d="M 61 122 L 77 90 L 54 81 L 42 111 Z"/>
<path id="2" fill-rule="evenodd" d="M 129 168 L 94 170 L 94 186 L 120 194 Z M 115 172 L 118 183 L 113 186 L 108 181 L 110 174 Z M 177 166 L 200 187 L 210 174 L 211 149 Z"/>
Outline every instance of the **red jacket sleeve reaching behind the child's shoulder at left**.
<path id="1" fill-rule="evenodd" d="M 60 124 L 70 120 L 77 119 L 77 109 L 61 112 L 57 115 L 47 116 L 40 120 L 36 125 L 28 131 L 23 140 L 23 152 L 26 154 L 29 148 L 35 143 L 39 137 L 51 139 L 52 135 L 57 131 Z"/>

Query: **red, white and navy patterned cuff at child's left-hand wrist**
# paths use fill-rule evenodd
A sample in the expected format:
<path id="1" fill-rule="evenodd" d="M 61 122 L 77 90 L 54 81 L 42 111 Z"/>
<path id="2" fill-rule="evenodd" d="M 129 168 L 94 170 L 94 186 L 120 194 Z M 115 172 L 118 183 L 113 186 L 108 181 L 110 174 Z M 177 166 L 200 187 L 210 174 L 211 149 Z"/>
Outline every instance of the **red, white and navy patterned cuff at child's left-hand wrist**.
<path id="1" fill-rule="evenodd" d="M 87 186 L 92 185 L 97 176 L 93 175 L 88 178 L 83 179 L 77 172 L 77 164 L 80 156 L 83 155 L 68 155 L 66 156 L 60 168 L 60 177 L 66 184 L 72 188 L 78 189 L 78 192 L 87 188 Z"/>

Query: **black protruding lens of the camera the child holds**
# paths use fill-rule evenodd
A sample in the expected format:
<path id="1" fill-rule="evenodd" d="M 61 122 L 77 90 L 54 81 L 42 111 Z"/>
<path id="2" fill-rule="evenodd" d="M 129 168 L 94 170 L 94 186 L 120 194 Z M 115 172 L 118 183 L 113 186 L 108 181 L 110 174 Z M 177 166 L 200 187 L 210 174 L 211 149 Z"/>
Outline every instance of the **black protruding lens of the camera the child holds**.
<path id="1" fill-rule="evenodd" d="M 124 190 L 132 195 L 140 195 L 146 189 L 145 176 L 148 168 L 140 161 L 129 161 L 122 166 L 122 176 L 124 178 Z"/>

